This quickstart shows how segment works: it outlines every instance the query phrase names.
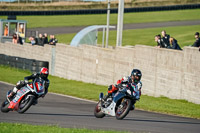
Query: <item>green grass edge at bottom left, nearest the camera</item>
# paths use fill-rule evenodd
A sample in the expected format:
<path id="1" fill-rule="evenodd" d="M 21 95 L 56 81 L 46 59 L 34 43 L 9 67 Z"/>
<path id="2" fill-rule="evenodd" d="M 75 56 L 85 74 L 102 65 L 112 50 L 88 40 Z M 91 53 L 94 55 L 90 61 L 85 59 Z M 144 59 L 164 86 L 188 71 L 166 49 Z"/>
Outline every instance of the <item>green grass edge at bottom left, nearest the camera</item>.
<path id="1" fill-rule="evenodd" d="M 51 125 L 30 125 L 19 123 L 0 123 L 0 133 L 128 133 L 118 131 L 61 128 Z"/>

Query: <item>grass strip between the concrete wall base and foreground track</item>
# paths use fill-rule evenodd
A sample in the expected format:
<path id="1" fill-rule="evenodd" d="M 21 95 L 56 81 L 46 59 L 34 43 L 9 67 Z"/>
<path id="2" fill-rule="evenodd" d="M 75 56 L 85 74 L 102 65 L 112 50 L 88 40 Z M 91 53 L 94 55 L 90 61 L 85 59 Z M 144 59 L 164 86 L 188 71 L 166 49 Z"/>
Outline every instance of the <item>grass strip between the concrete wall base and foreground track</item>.
<path id="1" fill-rule="evenodd" d="M 0 66 L 0 81 L 15 84 L 18 80 L 23 80 L 23 77 L 29 74 L 31 73 L 28 71 Z M 98 101 L 99 93 L 106 93 L 107 91 L 107 86 L 67 80 L 55 76 L 49 76 L 49 79 L 50 92 Z M 136 108 L 200 119 L 200 105 L 185 100 L 172 100 L 166 97 L 155 98 L 142 95 L 140 101 L 136 103 Z"/>

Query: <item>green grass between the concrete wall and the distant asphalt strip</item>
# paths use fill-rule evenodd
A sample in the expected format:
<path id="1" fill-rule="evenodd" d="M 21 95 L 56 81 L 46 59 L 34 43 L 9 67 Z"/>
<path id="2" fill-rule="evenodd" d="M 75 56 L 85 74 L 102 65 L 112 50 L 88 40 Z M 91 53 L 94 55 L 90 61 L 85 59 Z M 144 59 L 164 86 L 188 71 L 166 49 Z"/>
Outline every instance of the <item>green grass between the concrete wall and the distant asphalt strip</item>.
<path id="1" fill-rule="evenodd" d="M 134 29 L 134 30 L 124 30 L 122 44 L 125 45 L 148 45 L 156 46 L 157 43 L 154 41 L 154 36 L 161 34 L 162 30 L 166 30 L 167 34 L 178 40 L 178 44 L 181 47 L 192 45 L 195 41 L 194 33 L 200 29 L 200 25 L 194 26 L 176 26 L 176 27 L 162 27 L 162 28 L 148 28 L 148 29 Z M 109 33 L 109 45 L 116 46 L 116 31 L 110 31 Z M 60 34 L 56 37 L 60 43 L 69 44 L 72 38 L 75 36 L 73 34 Z M 98 44 L 102 43 L 102 32 L 98 34 Z"/>

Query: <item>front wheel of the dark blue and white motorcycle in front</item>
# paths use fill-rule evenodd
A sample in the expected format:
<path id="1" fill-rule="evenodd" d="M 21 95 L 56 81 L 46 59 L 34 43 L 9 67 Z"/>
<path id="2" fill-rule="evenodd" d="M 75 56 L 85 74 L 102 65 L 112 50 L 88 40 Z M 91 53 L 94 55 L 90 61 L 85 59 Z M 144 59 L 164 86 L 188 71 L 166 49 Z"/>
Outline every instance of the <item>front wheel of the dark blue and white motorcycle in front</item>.
<path id="1" fill-rule="evenodd" d="M 122 120 L 126 115 L 129 113 L 131 108 L 131 100 L 130 99 L 123 99 L 121 104 L 116 108 L 116 119 Z"/>

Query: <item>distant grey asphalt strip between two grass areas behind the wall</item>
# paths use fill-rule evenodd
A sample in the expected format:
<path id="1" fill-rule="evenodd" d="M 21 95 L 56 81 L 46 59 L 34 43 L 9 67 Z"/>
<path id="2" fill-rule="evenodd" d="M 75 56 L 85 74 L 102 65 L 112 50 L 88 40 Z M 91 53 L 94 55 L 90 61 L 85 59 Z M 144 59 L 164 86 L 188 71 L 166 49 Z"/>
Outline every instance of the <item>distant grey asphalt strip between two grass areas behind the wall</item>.
<path id="1" fill-rule="evenodd" d="M 187 26 L 187 25 L 200 25 L 200 20 L 187 20 L 187 21 L 170 21 L 170 22 L 154 22 L 154 23 L 138 23 L 138 24 L 124 24 L 124 30 L 130 29 L 145 29 L 145 28 L 156 28 L 156 27 L 169 27 L 169 26 Z M 116 25 L 114 25 L 117 27 Z M 76 27 L 48 27 L 48 28 L 32 28 L 28 31 L 38 31 L 39 33 L 47 34 L 69 34 L 77 33 L 86 26 L 76 26 Z M 111 29 L 111 30 L 116 30 Z"/>

